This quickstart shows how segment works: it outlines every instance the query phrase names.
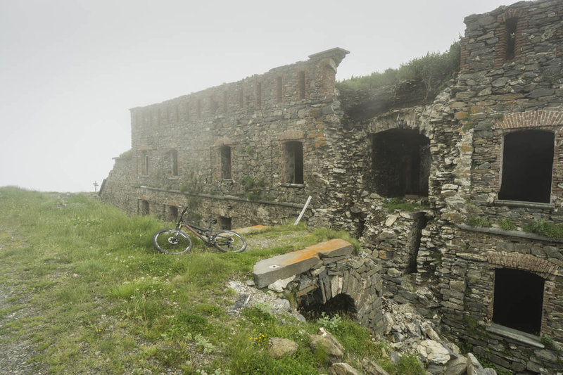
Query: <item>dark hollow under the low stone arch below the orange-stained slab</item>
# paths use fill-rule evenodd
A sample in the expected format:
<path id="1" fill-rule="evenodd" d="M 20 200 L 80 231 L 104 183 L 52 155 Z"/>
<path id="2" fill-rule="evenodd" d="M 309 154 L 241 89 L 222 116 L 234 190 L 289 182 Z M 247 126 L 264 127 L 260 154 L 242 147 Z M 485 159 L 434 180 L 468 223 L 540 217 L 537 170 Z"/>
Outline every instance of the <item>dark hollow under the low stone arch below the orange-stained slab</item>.
<path id="1" fill-rule="evenodd" d="M 320 303 L 320 291 L 317 289 L 316 293 L 308 295 L 308 298 L 302 301 L 298 310 L 303 314 L 305 319 L 318 319 L 324 313 L 328 317 L 334 317 L 339 314 L 341 317 L 349 317 L 350 319 L 356 318 L 356 307 L 354 300 L 347 294 L 335 295 L 333 298 L 327 300 L 326 303 Z"/>

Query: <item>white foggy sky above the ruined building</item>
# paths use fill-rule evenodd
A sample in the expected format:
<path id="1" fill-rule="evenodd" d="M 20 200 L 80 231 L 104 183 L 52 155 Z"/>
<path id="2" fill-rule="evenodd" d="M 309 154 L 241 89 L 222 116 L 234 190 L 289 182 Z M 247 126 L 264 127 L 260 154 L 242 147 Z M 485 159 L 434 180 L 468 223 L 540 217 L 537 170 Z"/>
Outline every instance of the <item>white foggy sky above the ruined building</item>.
<path id="1" fill-rule="evenodd" d="M 0 186 L 94 191 L 131 148 L 129 108 L 334 47 L 338 80 L 398 68 L 512 2 L 0 0 Z"/>

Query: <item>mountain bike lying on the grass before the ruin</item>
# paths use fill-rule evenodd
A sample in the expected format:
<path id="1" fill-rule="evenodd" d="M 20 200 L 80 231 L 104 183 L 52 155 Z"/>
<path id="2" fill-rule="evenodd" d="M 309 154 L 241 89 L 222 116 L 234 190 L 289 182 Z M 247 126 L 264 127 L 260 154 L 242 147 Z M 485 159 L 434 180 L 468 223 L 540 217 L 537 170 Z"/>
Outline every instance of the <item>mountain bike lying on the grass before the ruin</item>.
<path id="1" fill-rule="evenodd" d="M 223 253 L 241 253 L 246 249 L 246 241 L 234 231 L 211 231 L 217 219 L 209 219 L 208 229 L 196 227 L 194 224 L 184 222 L 183 218 L 188 208 L 184 208 L 175 229 L 160 229 L 153 234 L 153 245 L 158 251 L 165 254 L 185 254 L 191 250 L 191 239 L 182 231 L 182 228 L 190 231 L 198 239 L 215 246 Z"/>

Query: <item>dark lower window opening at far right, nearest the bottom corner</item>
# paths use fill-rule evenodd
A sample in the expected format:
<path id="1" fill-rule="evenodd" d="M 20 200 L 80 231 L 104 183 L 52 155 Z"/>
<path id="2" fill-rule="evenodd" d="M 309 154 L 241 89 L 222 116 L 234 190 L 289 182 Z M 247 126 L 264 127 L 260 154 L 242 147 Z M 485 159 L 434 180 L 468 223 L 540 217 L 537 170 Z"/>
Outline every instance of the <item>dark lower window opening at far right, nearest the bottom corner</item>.
<path id="1" fill-rule="evenodd" d="M 544 280 L 519 269 L 495 271 L 493 322 L 539 336 Z"/>

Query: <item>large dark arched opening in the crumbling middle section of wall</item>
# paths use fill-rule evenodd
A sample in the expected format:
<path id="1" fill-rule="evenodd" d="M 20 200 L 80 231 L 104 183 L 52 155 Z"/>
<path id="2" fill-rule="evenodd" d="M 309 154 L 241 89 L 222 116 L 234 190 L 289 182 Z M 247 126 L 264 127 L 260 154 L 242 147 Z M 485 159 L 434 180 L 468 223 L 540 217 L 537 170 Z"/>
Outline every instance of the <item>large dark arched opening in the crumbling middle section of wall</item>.
<path id="1" fill-rule="evenodd" d="M 385 197 L 428 196 L 430 141 L 415 130 L 391 129 L 372 138 L 372 181 Z"/>

